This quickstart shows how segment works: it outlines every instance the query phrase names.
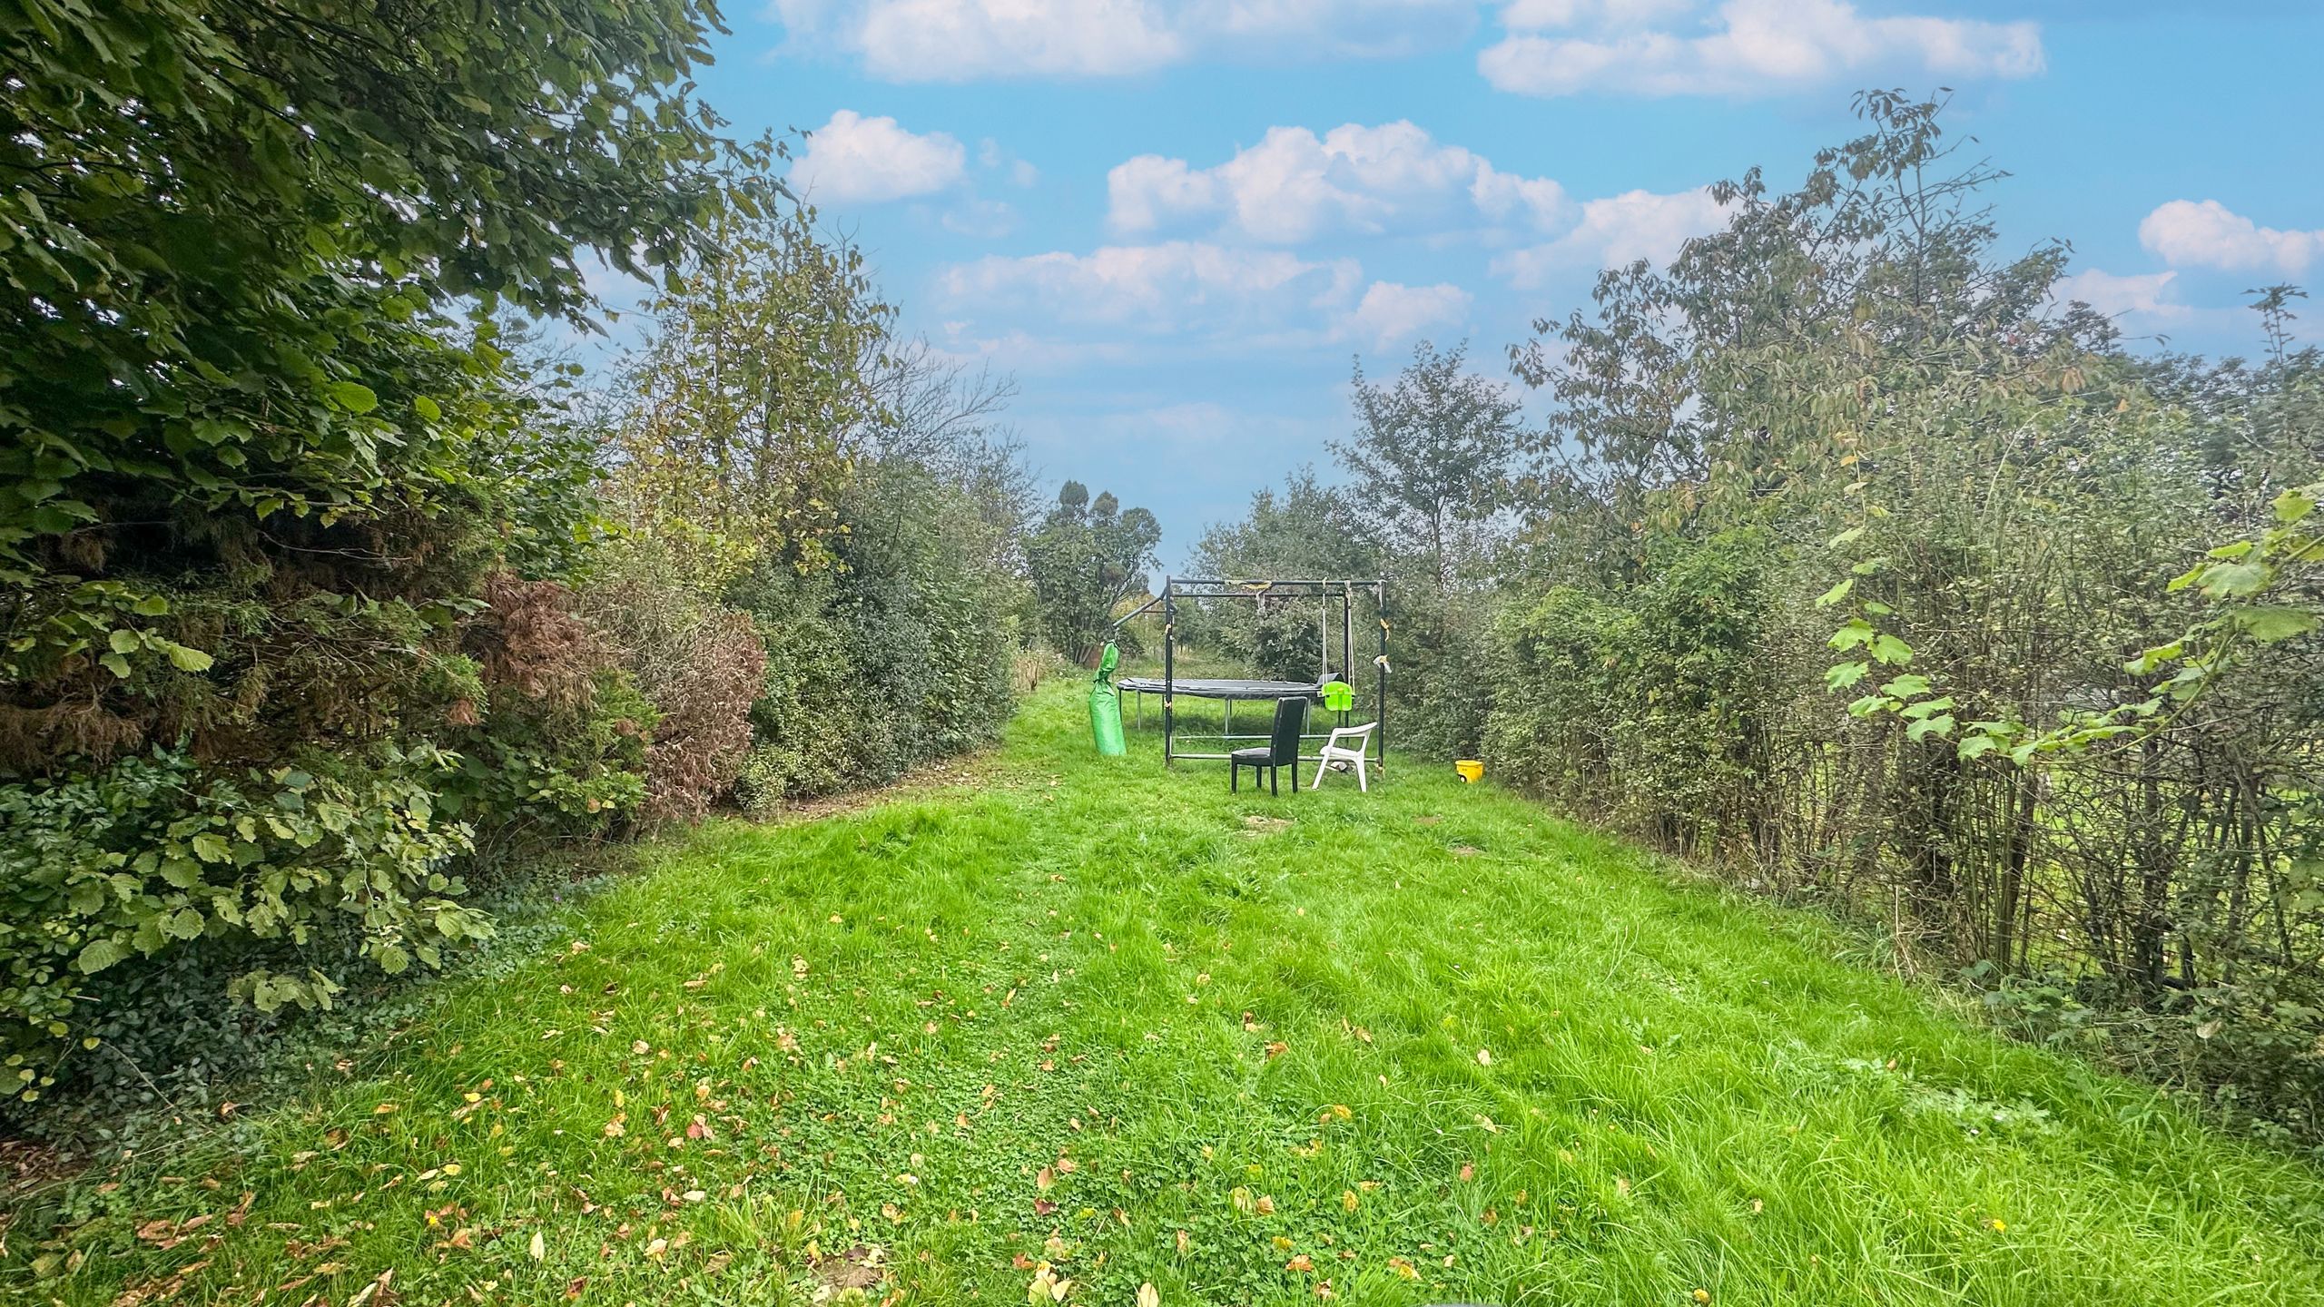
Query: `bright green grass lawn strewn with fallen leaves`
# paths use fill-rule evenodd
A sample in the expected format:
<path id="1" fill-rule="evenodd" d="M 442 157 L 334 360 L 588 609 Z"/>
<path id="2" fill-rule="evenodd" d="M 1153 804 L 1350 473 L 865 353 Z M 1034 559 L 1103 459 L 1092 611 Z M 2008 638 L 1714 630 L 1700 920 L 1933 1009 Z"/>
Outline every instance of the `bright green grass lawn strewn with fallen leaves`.
<path id="1" fill-rule="evenodd" d="M 0 1291 L 2324 1302 L 2312 1170 L 1813 916 L 1434 767 L 1229 798 L 1085 733 L 1046 686 L 974 784 L 651 851 L 230 1142 L 44 1195 Z"/>

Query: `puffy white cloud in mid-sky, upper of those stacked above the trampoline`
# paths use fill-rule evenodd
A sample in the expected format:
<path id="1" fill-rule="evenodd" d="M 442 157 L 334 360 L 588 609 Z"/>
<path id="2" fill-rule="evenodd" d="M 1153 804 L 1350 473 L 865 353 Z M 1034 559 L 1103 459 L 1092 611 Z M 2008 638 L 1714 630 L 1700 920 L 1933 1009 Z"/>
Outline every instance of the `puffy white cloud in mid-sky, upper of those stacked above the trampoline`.
<path id="1" fill-rule="evenodd" d="M 1325 233 L 1441 230 L 1478 219 L 1548 228 L 1566 209 L 1557 181 L 1499 172 L 1406 121 L 1343 123 L 1322 137 L 1269 128 L 1260 144 L 1215 167 L 1143 153 L 1106 174 L 1106 195 L 1118 233 L 1220 221 L 1271 244 Z"/>

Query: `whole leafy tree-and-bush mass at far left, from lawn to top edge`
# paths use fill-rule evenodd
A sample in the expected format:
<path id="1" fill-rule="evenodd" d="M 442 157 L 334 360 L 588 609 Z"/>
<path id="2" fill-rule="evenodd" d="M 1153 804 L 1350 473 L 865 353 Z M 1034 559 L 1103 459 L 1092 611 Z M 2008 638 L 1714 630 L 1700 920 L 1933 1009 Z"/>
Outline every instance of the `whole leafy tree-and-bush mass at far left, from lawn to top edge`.
<path id="1" fill-rule="evenodd" d="M 225 1037 L 184 1014 L 228 977 L 272 1012 L 432 967 L 486 930 L 472 828 L 634 807 L 651 712 L 548 584 L 600 535 L 595 440 L 495 314 L 586 328 L 576 256 L 655 274 L 779 191 L 693 100 L 713 23 L 0 5 L 19 1065 Z M 167 1074 L 163 1035 L 109 1054 Z"/>

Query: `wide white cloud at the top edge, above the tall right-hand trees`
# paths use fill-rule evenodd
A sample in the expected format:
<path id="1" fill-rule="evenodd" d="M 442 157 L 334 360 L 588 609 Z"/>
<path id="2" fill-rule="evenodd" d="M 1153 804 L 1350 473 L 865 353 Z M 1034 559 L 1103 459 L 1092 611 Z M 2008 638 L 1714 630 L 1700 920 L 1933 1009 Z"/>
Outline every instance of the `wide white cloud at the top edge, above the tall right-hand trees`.
<path id="1" fill-rule="evenodd" d="M 1666 0 L 1515 0 L 1506 37 L 1478 53 L 1501 91 L 1576 95 L 1766 95 L 1841 77 L 2031 77 L 2043 70 L 2029 21 L 1866 16 L 1845 0 L 1727 0 L 1708 30 L 1652 26 Z"/>

